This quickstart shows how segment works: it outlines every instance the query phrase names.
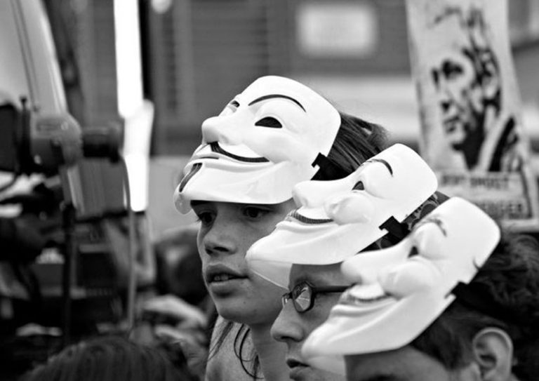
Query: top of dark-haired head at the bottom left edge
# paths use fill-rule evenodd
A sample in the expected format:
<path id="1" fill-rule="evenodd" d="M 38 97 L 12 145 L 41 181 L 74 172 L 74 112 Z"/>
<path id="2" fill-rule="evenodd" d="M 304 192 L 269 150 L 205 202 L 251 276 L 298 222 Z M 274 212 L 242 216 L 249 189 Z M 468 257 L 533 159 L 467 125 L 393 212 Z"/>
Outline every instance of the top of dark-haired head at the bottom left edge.
<path id="1" fill-rule="evenodd" d="M 62 349 L 23 375 L 21 381 L 194 381 L 185 357 L 176 363 L 166 352 L 116 335 L 95 337 Z"/>

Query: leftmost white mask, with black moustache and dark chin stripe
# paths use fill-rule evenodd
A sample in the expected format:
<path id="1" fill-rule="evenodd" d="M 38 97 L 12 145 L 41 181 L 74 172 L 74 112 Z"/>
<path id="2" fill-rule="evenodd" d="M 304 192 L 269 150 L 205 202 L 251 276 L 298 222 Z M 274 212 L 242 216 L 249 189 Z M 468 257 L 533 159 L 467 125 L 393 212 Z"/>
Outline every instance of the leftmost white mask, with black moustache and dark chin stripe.
<path id="1" fill-rule="evenodd" d="M 279 76 L 257 79 L 202 124 L 203 141 L 175 192 L 189 201 L 281 203 L 318 171 L 340 127 L 340 114 L 307 86 Z"/>

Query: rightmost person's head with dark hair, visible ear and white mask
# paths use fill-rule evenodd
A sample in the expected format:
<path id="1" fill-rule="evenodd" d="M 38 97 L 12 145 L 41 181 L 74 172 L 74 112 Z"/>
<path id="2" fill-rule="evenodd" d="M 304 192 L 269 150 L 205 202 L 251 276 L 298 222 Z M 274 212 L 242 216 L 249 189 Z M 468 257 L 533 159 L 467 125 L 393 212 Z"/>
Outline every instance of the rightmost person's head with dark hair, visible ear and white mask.
<path id="1" fill-rule="evenodd" d="M 533 380 L 537 254 L 533 239 L 500 240 L 482 210 L 450 199 L 396 246 L 343 263 L 357 284 L 303 353 L 345 356 L 356 381 Z"/>

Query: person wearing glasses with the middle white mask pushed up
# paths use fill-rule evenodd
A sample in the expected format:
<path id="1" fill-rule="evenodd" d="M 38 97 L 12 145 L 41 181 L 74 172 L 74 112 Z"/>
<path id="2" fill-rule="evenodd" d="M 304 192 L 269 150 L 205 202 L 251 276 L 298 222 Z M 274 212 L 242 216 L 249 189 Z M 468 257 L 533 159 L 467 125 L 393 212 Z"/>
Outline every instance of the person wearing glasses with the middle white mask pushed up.
<path id="1" fill-rule="evenodd" d="M 324 371 L 312 368 L 301 354 L 307 336 L 350 286 L 340 263 L 373 244 L 386 247 L 403 238 L 444 201 L 436 189 L 432 170 L 404 145 L 385 149 L 346 178 L 296 185 L 293 196 L 300 207 L 246 256 L 255 274 L 289 290 L 271 333 L 286 343 L 292 380 L 343 379 L 342 359 Z"/>

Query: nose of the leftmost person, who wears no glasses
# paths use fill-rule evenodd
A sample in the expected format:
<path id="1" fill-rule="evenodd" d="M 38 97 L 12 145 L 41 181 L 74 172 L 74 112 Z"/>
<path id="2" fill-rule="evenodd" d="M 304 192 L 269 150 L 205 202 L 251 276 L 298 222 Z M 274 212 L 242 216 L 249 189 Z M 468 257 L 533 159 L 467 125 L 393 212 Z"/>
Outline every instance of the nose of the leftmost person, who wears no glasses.
<path id="1" fill-rule="evenodd" d="M 237 253 L 239 236 L 241 232 L 237 231 L 234 222 L 217 216 L 201 236 L 201 243 L 208 255 L 229 255 Z"/>

